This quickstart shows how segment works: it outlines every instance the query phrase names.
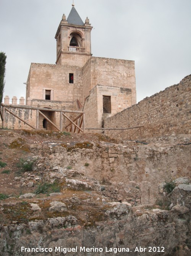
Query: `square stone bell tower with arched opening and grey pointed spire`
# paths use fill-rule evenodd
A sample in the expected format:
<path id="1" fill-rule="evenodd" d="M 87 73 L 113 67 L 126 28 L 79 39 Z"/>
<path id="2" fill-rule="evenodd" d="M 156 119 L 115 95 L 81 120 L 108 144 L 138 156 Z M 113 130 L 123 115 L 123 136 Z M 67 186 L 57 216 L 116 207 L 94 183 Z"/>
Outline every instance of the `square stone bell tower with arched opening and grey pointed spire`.
<path id="1" fill-rule="evenodd" d="M 72 4 L 68 18 L 62 16 L 55 39 L 58 65 L 84 66 L 91 58 L 91 30 L 89 19 L 85 23 Z"/>

